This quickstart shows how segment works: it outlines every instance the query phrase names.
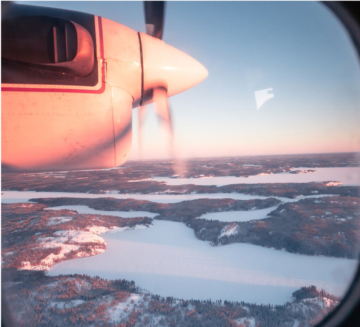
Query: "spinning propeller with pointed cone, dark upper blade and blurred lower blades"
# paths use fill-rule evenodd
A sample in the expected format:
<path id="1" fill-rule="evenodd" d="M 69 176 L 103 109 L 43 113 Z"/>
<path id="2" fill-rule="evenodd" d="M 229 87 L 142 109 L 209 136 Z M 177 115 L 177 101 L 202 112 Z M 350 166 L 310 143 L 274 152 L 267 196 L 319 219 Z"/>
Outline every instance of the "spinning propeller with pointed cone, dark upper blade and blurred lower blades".
<path id="1" fill-rule="evenodd" d="M 139 108 L 139 145 L 147 103 L 154 103 L 156 115 L 173 145 L 168 97 L 192 88 L 208 72 L 201 63 L 162 41 L 164 1 L 144 1 L 148 35 L 139 33 L 143 56 L 143 89 Z M 149 37 L 150 36 L 150 37 Z"/>

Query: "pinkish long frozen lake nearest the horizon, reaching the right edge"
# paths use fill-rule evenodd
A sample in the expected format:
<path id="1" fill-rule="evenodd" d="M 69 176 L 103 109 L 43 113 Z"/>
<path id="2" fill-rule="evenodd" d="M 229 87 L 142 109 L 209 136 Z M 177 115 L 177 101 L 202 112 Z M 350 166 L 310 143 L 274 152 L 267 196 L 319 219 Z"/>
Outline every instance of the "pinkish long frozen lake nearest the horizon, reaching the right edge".
<path id="1" fill-rule="evenodd" d="M 328 180 L 342 182 L 347 185 L 360 185 L 359 167 L 327 167 L 327 168 L 307 168 L 300 167 L 297 169 L 313 169 L 314 173 L 307 174 L 269 174 L 255 175 L 249 177 L 206 177 L 206 178 L 169 178 L 154 177 L 145 180 L 154 180 L 156 182 L 166 182 L 168 185 L 229 185 L 229 184 L 256 184 L 256 183 L 308 183 L 308 182 L 325 182 Z"/>

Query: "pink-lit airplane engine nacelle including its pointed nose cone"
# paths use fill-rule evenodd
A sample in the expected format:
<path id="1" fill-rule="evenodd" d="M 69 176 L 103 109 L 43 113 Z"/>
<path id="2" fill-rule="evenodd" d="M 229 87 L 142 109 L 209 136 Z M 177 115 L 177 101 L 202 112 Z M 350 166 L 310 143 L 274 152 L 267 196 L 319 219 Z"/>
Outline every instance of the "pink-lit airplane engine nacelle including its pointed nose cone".
<path id="1" fill-rule="evenodd" d="M 170 96 L 206 76 L 195 59 L 119 23 L 11 4 L 1 21 L 2 166 L 121 165 L 131 151 L 132 108 L 152 102 L 158 86 Z"/>

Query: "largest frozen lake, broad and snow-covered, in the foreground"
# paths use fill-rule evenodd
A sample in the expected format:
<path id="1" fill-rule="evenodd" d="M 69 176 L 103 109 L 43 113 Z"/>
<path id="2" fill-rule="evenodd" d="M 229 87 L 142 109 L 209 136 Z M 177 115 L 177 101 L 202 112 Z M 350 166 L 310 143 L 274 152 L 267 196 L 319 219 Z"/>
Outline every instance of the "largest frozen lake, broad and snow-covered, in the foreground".
<path id="1" fill-rule="evenodd" d="M 162 296 L 283 304 L 301 286 L 342 295 L 356 260 L 291 254 L 250 244 L 210 247 L 182 223 L 104 234 L 107 251 L 65 261 L 50 275 L 79 273 L 133 279 Z"/>

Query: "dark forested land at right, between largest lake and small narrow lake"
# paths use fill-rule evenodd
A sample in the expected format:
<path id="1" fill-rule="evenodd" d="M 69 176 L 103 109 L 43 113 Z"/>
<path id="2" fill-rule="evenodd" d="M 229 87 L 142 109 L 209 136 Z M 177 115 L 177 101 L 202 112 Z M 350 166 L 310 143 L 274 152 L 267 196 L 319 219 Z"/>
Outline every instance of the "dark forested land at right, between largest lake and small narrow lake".
<path id="1" fill-rule="evenodd" d="M 199 239 L 211 241 L 214 246 L 251 243 L 292 253 L 356 259 L 360 244 L 359 205 L 359 198 L 352 197 L 283 203 L 266 219 L 233 223 L 239 232 L 221 237 L 224 223 L 219 221 L 194 219 L 186 224 Z"/>

